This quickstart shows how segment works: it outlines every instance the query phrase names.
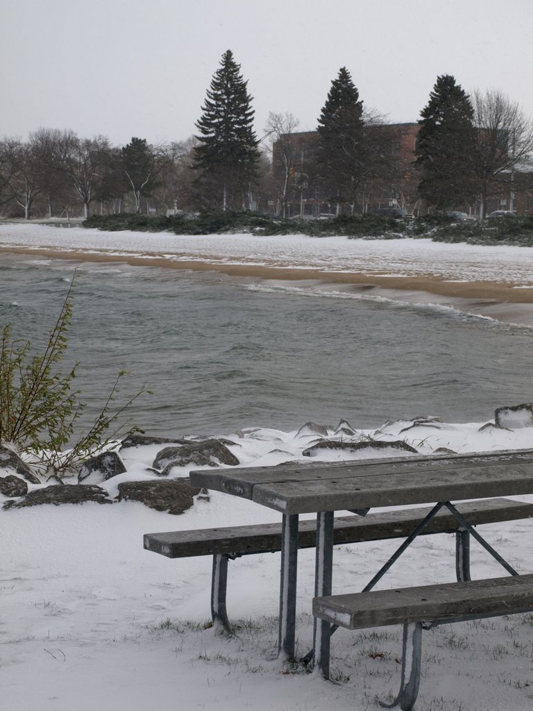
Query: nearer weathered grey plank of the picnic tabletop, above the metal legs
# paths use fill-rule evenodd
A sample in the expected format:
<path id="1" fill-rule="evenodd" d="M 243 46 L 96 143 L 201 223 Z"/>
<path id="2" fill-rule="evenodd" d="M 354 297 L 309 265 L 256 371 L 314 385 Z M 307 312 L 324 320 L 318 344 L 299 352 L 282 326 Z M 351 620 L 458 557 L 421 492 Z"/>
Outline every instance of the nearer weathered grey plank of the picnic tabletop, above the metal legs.
<path id="1" fill-rule="evenodd" d="M 256 484 L 252 500 L 282 513 L 310 513 L 526 493 L 533 493 L 532 464 L 431 471 L 421 478 L 404 471 L 382 477 L 308 481 L 306 486 L 298 482 Z"/>

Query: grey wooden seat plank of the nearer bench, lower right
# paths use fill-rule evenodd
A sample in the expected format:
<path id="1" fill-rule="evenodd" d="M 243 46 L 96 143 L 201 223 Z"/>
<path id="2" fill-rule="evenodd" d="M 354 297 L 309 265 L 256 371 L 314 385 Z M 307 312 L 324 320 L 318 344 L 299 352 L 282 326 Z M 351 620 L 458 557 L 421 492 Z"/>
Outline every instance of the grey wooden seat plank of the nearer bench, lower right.
<path id="1" fill-rule="evenodd" d="M 348 629 L 460 621 L 531 610 L 531 574 L 313 599 L 313 615 Z"/>

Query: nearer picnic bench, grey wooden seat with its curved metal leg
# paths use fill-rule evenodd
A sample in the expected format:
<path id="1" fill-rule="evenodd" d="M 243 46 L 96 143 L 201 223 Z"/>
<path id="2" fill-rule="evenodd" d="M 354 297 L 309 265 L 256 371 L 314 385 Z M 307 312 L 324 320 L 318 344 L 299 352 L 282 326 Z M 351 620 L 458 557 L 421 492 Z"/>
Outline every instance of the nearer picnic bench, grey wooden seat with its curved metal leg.
<path id="1" fill-rule="evenodd" d="M 347 629 L 404 625 L 402 683 L 391 707 L 408 711 L 419 690 L 422 629 L 533 611 L 533 575 L 316 597 L 313 615 Z M 328 677 L 326 659 L 323 675 Z"/>

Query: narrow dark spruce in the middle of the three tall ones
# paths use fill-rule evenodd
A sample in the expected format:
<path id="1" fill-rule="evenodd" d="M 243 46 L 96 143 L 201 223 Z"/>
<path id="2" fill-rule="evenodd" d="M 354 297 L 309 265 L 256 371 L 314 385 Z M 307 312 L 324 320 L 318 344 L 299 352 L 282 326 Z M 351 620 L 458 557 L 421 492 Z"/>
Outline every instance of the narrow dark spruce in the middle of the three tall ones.
<path id="1" fill-rule="evenodd" d="M 362 101 L 350 73 L 343 67 L 331 82 L 318 119 L 318 165 L 325 189 L 338 210 L 347 202 L 353 213 L 357 186 L 366 164 Z"/>

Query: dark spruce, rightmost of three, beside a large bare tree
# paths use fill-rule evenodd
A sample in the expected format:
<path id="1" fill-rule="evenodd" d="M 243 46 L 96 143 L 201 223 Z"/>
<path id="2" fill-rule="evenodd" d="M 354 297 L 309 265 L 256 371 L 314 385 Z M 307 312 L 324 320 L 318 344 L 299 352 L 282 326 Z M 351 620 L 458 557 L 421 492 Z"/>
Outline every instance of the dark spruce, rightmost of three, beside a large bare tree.
<path id="1" fill-rule="evenodd" d="M 438 210 L 470 205 L 477 192 L 477 132 L 468 95 L 455 77 L 438 76 L 420 115 L 415 165 L 421 198 Z"/>

